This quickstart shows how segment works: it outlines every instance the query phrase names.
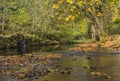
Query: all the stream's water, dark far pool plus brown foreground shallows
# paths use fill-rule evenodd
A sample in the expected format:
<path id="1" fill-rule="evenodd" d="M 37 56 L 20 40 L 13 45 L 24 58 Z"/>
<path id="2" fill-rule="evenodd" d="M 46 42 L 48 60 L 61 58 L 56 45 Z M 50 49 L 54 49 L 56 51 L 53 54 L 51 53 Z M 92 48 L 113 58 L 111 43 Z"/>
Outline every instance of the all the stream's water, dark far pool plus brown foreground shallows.
<path id="1" fill-rule="evenodd" d="M 64 46 L 41 46 L 41 47 L 33 47 L 29 48 L 26 52 L 28 53 L 62 53 L 66 54 L 65 49 L 73 47 L 76 45 L 64 45 Z M 14 55 L 17 54 L 17 50 L 2 50 L 1 52 L 6 55 Z M 67 56 L 68 55 L 68 56 Z M 120 81 L 120 55 L 111 55 L 106 52 L 106 54 L 102 54 L 102 52 L 97 55 L 89 56 L 87 59 L 82 55 L 73 55 L 75 59 L 72 59 L 73 56 L 67 53 L 67 57 L 63 57 L 60 61 L 60 69 L 61 71 L 66 68 L 70 69 L 70 73 L 63 74 L 60 71 L 50 72 L 45 76 L 40 76 L 38 79 L 34 81 Z M 94 76 L 93 72 L 105 73 L 110 78 L 107 78 L 102 75 Z M 0 81 L 6 81 L 0 76 Z"/>

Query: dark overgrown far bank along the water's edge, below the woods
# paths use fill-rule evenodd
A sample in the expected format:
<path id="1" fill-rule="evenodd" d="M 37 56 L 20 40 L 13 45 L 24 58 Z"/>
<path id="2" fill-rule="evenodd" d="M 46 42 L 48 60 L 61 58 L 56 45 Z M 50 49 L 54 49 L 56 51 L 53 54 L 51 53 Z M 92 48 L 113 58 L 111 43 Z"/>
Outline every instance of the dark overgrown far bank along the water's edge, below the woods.
<path id="1" fill-rule="evenodd" d="M 12 35 L 0 37 L 0 49 L 16 48 L 17 42 L 24 39 L 26 40 L 27 46 L 37 45 L 57 45 L 57 44 L 78 44 L 91 41 L 90 39 L 79 39 L 79 40 L 50 40 L 50 39 L 39 39 L 31 36 Z"/>

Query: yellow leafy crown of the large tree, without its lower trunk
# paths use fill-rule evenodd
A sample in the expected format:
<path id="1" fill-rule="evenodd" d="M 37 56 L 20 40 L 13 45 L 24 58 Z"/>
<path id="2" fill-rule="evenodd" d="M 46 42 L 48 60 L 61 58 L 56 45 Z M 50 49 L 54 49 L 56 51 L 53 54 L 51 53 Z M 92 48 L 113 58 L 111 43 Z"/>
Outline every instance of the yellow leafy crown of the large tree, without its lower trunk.
<path id="1" fill-rule="evenodd" d="M 64 4 L 63 4 L 64 3 Z M 69 4 L 67 4 L 69 3 Z M 74 3 L 74 4 L 73 4 Z M 100 5 L 101 5 L 102 1 L 101 0 L 89 0 L 89 1 L 85 1 L 85 0 L 58 0 L 58 2 L 56 4 L 53 5 L 53 9 L 58 9 L 60 8 L 60 10 L 63 10 L 64 12 L 58 10 L 58 13 L 62 13 L 62 14 L 68 14 L 71 13 L 70 16 L 68 15 L 68 17 L 63 18 L 65 19 L 65 21 L 70 21 L 70 20 L 75 20 L 75 18 L 79 17 L 81 12 L 83 14 L 85 14 L 87 17 L 89 16 L 95 16 L 95 17 L 100 17 L 103 16 L 104 14 L 101 12 L 100 9 Z M 64 8 L 63 8 L 64 6 Z M 83 11 L 84 10 L 84 11 Z M 58 19 L 61 19 L 58 16 Z"/>

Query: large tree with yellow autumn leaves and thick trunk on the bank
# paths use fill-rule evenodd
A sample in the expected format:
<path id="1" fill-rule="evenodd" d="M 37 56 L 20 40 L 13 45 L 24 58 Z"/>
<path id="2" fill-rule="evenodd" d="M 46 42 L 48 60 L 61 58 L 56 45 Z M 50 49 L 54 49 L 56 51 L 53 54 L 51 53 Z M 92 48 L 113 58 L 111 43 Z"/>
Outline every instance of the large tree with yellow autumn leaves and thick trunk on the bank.
<path id="1" fill-rule="evenodd" d="M 88 18 L 91 23 L 92 38 L 100 41 L 104 36 L 105 25 L 111 21 L 112 7 L 116 0 L 57 0 L 53 8 L 66 21 L 77 21 L 81 16 Z M 58 14 L 57 14 L 58 15 Z M 59 17 L 59 16 L 58 16 Z M 77 19 L 77 20 L 76 20 Z"/>

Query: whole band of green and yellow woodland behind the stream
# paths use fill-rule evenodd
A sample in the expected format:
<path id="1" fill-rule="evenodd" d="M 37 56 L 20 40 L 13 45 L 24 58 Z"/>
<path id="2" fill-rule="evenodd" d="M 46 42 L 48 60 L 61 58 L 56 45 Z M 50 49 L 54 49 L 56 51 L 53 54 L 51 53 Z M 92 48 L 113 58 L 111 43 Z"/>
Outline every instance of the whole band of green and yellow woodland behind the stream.
<path id="1" fill-rule="evenodd" d="M 119 0 L 0 0 L 0 36 L 65 42 L 119 34 Z"/>

